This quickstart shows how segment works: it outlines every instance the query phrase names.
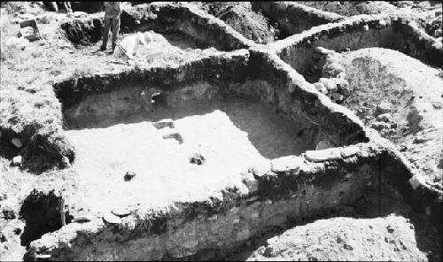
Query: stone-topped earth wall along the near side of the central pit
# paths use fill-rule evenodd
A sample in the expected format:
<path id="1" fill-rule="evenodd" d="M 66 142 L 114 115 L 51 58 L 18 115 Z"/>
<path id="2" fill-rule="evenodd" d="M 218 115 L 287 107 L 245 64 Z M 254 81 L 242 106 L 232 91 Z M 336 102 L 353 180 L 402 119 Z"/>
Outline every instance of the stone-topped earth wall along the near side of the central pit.
<path id="1" fill-rule="evenodd" d="M 221 258 L 268 227 L 353 204 L 364 189 L 376 185 L 372 162 L 377 156 L 364 144 L 358 148 L 360 152 L 338 160 L 312 163 L 293 157 L 295 162 L 285 170 L 276 169 L 275 163 L 252 168 L 243 174 L 247 190 L 226 189 L 221 199 L 208 202 L 175 203 L 149 223 L 136 219 L 136 225 L 144 227 L 126 226 L 134 217 L 120 226 L 101 221 L 69 224 L 32 243 L 30 253 L 84 260 Z M 54 242 L 55 248 L 44 250 Z"/>

